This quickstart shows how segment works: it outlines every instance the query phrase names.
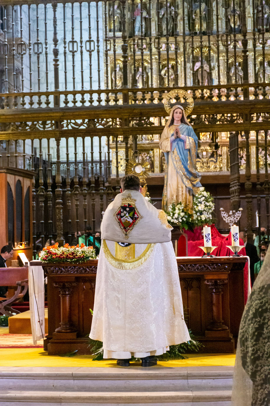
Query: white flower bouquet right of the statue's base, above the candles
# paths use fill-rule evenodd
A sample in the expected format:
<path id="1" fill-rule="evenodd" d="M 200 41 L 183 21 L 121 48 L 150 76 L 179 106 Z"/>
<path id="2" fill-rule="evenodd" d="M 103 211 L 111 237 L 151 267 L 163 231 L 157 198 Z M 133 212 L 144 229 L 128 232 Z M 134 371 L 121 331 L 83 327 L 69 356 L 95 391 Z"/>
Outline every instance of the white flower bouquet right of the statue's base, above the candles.
<path id="1" fill-rule="evenodd" d="M 213 197 L 209 192 L 206 192 L 202 187 L 200 191 L 193 197 L 193 225 L 201 226 L 204 224 L 213 223 L 213 211 L 215 205 Z"/>

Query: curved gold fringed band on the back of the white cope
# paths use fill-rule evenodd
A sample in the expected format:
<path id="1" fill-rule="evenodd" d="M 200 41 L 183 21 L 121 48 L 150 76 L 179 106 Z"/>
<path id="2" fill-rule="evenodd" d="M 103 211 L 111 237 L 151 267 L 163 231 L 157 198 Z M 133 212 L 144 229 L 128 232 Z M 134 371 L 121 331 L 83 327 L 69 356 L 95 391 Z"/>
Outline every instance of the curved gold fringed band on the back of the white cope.
<path id="1" fill-rule="evenodd" d="M 103 251 L 104 251 L 107 261 L 115 268 L 123 269 L 123 270 L 134 269 L 134 268 L 137 268 L 138 266 L 142 265 L 147 260 L 147 258 L 151 254 L 151 252 L 153 251 L 154 245 L 155 244 L 147 244 L 145 251 L 143 251 L 143 253 L 141 253 L 141 255 L 139 255 L 135 259 L 121 260 L 121 259 L 115 258 L 112 255 L 111 251 L 108 249 L 106 241 L 102 240 L 102 247 L 103 247 Z"/>

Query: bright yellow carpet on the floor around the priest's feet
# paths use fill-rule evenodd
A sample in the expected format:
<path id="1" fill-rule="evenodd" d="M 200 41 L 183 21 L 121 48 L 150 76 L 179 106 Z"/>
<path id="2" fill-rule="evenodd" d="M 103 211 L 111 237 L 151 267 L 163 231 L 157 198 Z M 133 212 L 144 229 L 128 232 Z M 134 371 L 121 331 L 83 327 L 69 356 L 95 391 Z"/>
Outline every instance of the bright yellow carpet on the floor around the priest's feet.
<path id="1" fill-rule="evenodd" d="M 159 361 L 164 367 L 234 366 L 235 354 L 189 354 L 189 359 Z M 61 357 L 40 348 L 0 348 L 1 367 L 116 367 L 116 360 L 92 361 L 90 355 Z M 140 366 L 140 363 L 133 363 Z"/>

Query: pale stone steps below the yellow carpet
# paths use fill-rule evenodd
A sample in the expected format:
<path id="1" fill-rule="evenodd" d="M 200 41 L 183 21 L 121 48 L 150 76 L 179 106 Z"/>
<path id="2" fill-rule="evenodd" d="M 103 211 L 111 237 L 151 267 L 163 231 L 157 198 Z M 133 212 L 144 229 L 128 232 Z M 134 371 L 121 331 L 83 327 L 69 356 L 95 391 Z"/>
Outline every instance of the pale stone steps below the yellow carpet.
<path id="1" fill-rule="evenodd" d="M 233 367 L 0 368 L 1 406 L 229 406 Z"/>

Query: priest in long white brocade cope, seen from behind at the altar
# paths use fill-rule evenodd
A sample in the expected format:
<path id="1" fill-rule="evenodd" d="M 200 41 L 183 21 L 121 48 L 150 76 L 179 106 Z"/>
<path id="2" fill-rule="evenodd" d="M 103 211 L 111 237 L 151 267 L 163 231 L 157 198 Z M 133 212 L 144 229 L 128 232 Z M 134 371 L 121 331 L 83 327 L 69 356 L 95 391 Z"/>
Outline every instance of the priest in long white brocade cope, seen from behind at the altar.
<path id="1" fill-rule="evenodd" d="M 89 335 L 103 341 L 103 358 L 124 367 L 132 356 L 156 365 L 155 356 L 190 339 L 172 227 L 141 190 L 140 179 L 126 175 L 104 213 Z"/>

